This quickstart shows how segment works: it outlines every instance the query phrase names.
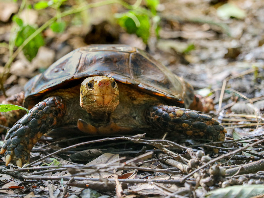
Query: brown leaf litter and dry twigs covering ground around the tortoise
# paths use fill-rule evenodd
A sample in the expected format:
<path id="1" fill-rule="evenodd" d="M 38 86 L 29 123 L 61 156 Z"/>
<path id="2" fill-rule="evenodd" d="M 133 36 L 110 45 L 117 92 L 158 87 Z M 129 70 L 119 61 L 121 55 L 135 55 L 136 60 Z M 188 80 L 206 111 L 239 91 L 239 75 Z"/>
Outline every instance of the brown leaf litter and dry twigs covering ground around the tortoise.
<path id="1" fill-rule="evenodd" d="M 54 2 L 53 6 L 61 6 L 59 1 Z M 146 2 L 151 1 L 141 3 L 146 6 Z M 1 6 L 4 12 L 0 11 L 2 43 L 10 40 L 11 16 L 20 6 L 20 2 L 8 3 L 9 6 Z M 63 6 L 72 6 L 72 3 L 65 2 Z M 9 95 L 16 92 L 12 90 L 19 92 L 25 79 L 86 44 L 125 43 L 142 49 L 148 46 L 155 59 L 187 79 L 202 97 L 213 100 L 216 110 L 209 113 L 218 116 L 228 130 L 223 146 L 219 148 L 214 143 L 193 140 L 181 140 L 178 146 L 172 143 L 176 138 L 169 136 L 166 138 L 170 141 L 149 141 L 144 136 L 114 137 L 107 142 L 103 139 L 103 144 L 96 142 L 98 137 L 86 137 L 90 143 L 78 146 L 83 138 L 51 139 L 44 136 L 35 145 L 31 162 L 41 157 L 45 161 L 22 169 L 12 165 L 10 170 L 0 168 L 2 194 L 24 197 L 263 195 L 263 2 L 189 0 L 175 3 L 163 0 L 155 6 L 161 18 L 159 39 L 155 39 L 154 29 L 148 34 L 144 32 L 146 30 L 140 32 L 136 25 L 131 26 L 130 33 L 141 37 L 138 38 L 113 23 L 115 13 L 126 13 L 119 18 L 122 19 L 120 23 L 131 19 L 126 10 L 117 5 L 95 8 L 94 12 L 83 12 L 73 18 L 66 16 L 63 20 L 67 27 L 64 21 L 55 21 L 53 26 L 44 30 L 45 43 L 36 37 L 39 46 L 45 45 L 38 49 L 38 53 L 24 53 L 26 56 L 20 53 L 12 62 L 12 75 L 7 76 L 4 87 L 7 93 L 11 90 Z M 18 16 L 24 23 L 20 24 L 18 35 L 25 35 L 26 27 L 31 31 L 27 34 L 34 32 L 34 25 L 44 24 L 53 11 L 47 7 L 38 15 L 32 9 L 21 12 Z M 96 17 L 86 17 L 93 14 Z M 137 16 L 138 13 L 132 14 Z M 29 21 L 28 16 L 31 16 Z M 82 25 L 84 19 L 86 25 Z M 17 46 L 19 44 L 17 42 Z M 36 57 L 32 58 L 34 55 Z M 0 46 L 0 57 L 0 71 L 3 73 L 3 66 L 9 58 L 4 44 Z M 12 89 L 14 86 L 21 89 Z M 1 96 L 0 100 L 3 99 Z M 63 149 L 74 144 L 75 148 Z M 203 153 L 201 146 L 219 152 Z M 83 150 L 87 150 L 86 153 L 76 155 Z M 59 165 L 55 166 L 53 159 Z M 40 166 L 43 163 L 50 165 Z"/>

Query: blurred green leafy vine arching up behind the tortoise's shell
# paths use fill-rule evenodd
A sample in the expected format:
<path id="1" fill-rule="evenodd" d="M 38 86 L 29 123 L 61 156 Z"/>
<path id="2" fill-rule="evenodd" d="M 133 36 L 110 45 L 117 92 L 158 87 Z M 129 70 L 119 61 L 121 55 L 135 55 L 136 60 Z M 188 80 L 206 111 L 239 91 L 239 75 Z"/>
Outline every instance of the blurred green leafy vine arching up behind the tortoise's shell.
<path id="1" fill-rule="evenodd" d="M 147 43 L 149 36 L 153 32 L 153 27 L 155 29 L 155 34 L 158 33 L 158 23 L 159 17 L 157 15 L 157 5 L 158 0 L 144 0 L 145 7 L 141 6 L 142 0 L 137 0 L 134 5 L 130 5 L 122 0 L 105 0 L 96 3 L 87 4 L 85 1 L 80 3 L 80 5 L 70 8 L 62 8 L 63 3 L 66 0 L 50 0 L 50 1 L 39 1 L 33 5 L 35 10 L 43 10 L 47 7 L 55 9 L 55 16 L 51 17 L 46 23 L 37 27 L 37 25 L 25 24 L 22 19 L 20 19 L 19 13 L 24 9 L 32 9 L 28 0 L 22 0 L 20 10 L 18 14 L 13 17 L 14 25 L 12 28 L 13 36 L 10 37 L 9 41 L 9 52 L 10 57 L 6 64 L 4 65 L 4 72 L 0 74 L 0 85 L 1 90 L 4 95 L 5 90 L 3 84 L 9 73 L 10 65 L 12 61 L 16 58 L 19 52 L 23 51 L 28 60 L 32 60 L 39 49 L 40 46 L 44 45 L 44 38 L 42 32 L 46 28 L 51 28 L 55 33 L 64 32 L 67 24 L 62 20 L 63 17 L 67 15 L 81 13 L 89 8 L 99 7 L 107 4 L 120 4 L 128 11 L 117 15 L 117 22 L 128 31 L 128 33 L 135 33 L 138 37 L 141 37 L 145 43 Z M 0 43 L 0 46 L 7 47 L 5 43 Z M 14 52 L 14 47 L 17 49 Z"/>

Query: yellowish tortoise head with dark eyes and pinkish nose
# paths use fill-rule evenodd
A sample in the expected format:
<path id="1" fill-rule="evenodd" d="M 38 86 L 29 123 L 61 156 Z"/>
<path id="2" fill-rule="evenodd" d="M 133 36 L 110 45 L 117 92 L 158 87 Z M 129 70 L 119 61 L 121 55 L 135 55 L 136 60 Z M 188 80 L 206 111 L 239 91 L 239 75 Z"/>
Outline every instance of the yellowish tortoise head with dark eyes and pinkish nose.
<path id="1" fill-rule="evenodd" d="M 119 104 L 114 78 L 88 77 L 81 84 L 80 106 L 93 115 L 113 112 Z"/>

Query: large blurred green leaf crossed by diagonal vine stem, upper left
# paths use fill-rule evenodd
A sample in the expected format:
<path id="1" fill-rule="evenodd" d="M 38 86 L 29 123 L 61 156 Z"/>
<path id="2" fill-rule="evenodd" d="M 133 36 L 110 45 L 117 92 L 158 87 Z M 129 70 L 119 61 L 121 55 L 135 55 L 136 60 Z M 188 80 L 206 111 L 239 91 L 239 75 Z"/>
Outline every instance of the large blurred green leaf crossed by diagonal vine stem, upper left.
<path id="1" fill-rule="evenodd" d="M 18 31 L 15 45 L 17 47 L 21 46 L 21 44 L 34 32 L 36 29 L 30 25 L 23 26 L 20 31 Z M 23 48 L 24 55 L 26 58 L 31 61 L 36 55 L 37 51 L 39 50 L 40 46 L 44 45 L 44 39 L 40 34 L 36 35 L 26 46 Z"/>

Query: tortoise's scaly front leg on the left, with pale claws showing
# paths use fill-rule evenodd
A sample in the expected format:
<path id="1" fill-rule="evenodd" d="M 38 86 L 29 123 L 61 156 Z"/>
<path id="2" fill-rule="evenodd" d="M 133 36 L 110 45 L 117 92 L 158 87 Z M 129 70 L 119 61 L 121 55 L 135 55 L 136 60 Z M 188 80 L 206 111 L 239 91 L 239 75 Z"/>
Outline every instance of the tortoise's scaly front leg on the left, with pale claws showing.
<path id="1" fill-rule="evenodd" d="M 6 166 L 28 163 L 30 151 L 40 137 L 57 124 L 65 114 L 66 106 L 61 97 L 51 96 L 39 102 L 29 114 L 18 120 L 8 131 L 0 154 L 6 157 Z"/>

